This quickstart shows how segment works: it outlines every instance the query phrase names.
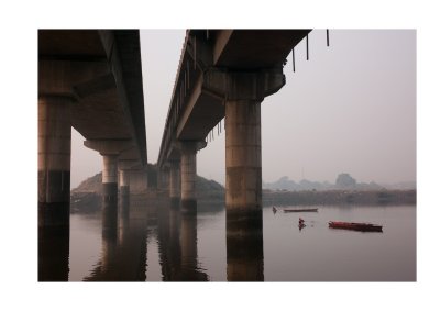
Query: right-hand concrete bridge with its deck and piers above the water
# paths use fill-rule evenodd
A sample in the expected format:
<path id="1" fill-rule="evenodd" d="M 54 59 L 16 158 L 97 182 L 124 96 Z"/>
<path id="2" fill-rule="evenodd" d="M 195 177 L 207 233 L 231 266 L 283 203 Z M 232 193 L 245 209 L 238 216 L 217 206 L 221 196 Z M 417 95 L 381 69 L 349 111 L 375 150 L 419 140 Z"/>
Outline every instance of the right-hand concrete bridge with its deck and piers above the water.
<path id="1" fill-rule="evenodd" d="M 228 232 L 261 227 L 261 102 L 285 85 L 286 57 L 309 32 L 187 31 L 157 160 L 183 212 L 197 211 L 196 153 L 224 118 Z"/>

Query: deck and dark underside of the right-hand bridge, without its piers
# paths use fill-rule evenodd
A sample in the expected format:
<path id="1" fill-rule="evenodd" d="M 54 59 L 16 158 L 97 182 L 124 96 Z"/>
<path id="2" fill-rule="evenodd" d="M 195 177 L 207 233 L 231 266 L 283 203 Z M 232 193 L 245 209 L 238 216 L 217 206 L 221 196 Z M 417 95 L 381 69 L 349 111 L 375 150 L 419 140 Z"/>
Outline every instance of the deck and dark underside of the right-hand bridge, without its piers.
<path id="1" fill-rule="evenodd" d="M 219 86 L 220 90 L 207 87 L 206 80 L 210 70 L 257 74 L 282 67 L 290 51 L 309 32 L 310 30 L 189 31 L 172 100 L 174 109 L 170 109 L 168 115 L 169 120 L 178 121 L 175 121 L 175 135 L 169 137 L 177 141 L 205 141 L 209 132 L 224 118 L 224 88 L 230 87 L 226 86 L 230 81 L 217 81 L 216 84 L 224 85 Z M 194 64 L 197 64 L 197 69 L 194 69 Z M 177 118 L 172 115 L 175 113 L 178 113 Z M 175 159 L 179 152 L 174 151 L 173 146 L 169 144 L 165 147 L 168 151 L 161 148 L 161 153 L 165 152 L 164 155 Z M 160 155 L 160 166 L 165 158 L 166 156 Z"/>

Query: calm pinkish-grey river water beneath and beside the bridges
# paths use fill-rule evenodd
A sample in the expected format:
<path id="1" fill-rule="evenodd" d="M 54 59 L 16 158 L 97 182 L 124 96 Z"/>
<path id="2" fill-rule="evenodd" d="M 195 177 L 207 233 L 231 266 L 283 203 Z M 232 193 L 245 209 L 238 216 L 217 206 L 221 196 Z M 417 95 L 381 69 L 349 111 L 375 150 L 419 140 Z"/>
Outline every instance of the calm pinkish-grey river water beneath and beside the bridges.
<path id="1" fill-rule="evenodd" d="M 240 273 L 265 281 L 416 280 L 416 207 L 310 208 L 319 211 L 274 214 L 264 208 L 263 249 L 256 251 L 263 255 L 256 258 L 249 256 L 253 244 L 227 256 L 224 210 L 186 218 L 166 208 L 131 208 L 110 234 L 100 214 L 73 214 L 68 279 L 226 281 L 228 274 Z M 299 216 L 307 224 L 302 230 Z M 331 220 L 384 227 L 383 233 L 333 230 Z M 241 251 L 248 255 L 240 259 Z"/>

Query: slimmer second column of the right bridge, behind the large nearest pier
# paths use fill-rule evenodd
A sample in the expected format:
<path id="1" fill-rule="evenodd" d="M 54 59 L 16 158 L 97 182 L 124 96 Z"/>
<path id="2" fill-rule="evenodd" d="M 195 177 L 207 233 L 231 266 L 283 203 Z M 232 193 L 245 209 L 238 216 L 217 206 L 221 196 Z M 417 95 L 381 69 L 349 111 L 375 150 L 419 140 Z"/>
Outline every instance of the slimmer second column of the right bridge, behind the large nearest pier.
<path id="1" fill-rule="evenodd" d="M 182 176 L 182 212 L 197 213 L 196 176 L 197 176 L 197 143 L 182 144 L 180 176 Z"/>

